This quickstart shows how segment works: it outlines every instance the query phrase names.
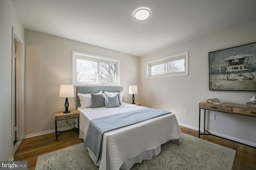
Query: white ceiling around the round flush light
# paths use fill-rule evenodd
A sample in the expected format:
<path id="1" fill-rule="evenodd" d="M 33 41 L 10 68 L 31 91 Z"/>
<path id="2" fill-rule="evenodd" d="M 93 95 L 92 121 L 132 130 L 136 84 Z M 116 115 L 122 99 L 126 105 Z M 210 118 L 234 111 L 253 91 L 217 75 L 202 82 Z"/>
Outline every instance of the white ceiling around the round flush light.
<path id="1" fill-rule="evenodd" d="M 139 57 L 256 18 L 256 0 L 11 1 L 25 29 Z"/>

